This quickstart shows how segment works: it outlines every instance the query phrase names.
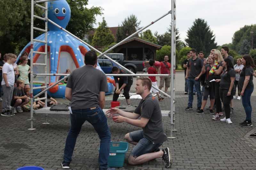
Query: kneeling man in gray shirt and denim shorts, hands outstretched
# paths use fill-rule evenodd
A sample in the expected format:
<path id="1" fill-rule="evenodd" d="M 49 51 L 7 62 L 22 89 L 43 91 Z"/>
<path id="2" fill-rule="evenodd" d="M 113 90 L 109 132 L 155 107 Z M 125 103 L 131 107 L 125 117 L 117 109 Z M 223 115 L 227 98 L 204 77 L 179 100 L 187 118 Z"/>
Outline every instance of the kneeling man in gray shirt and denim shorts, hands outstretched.
<path id="1" fill-rule="evenodd" d="M 107 114 L 108 117 L 113 116 L 113 121 L 116 123 L 126 122 L 142 128 L 142 130 L 133 131 L 124 136 L 127 142 L 135 145 L 128 158 L 129 164 L 137 165 L 152 159 L 162 158 L 166 162 L 165 167 L 169 168 L 172 165 L 170 149 L 168 147 L 163 150 L 159 149 L 167 137 L 164 133 L 158 99 L 150 93 L 151 87 L 152 82 L 149 78 L 137 78 L 135 89 L 142 100 L 134 113 L 110 108 Z M 139 117 L 140 119 L 138 119 Z"/>

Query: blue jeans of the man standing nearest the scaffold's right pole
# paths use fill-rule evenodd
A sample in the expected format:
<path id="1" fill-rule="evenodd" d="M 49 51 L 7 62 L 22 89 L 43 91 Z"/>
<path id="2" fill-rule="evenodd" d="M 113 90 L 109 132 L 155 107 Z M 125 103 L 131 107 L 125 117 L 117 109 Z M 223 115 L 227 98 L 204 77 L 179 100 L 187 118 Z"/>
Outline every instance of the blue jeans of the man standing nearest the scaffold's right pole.
<path id="1" fill-rule="evenodd" d="M 201 85 L 199 80 L 188 78 L 188 107 L 192 107 L 193 104 L 193 87 L 195 85 L 196 95 L 197 95 L 197 107 L 202 105 L 202 94 L 201 94 Z"/>

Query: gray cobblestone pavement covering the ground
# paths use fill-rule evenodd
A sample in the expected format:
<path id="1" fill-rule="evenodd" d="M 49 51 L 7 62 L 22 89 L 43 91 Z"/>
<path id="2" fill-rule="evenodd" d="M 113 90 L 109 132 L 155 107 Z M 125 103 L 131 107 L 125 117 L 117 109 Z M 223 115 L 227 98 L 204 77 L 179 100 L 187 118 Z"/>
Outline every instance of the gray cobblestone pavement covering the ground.
<path id="1" fill-rule="evenodd" d="M 184 74 L 184 73 L 183 73 Z M 183 74 L 178 73 L 176 83 L 180 89 L 183 84 Z M 176 84 L 176 86 L 177 86 Z M 183 86 L 184 87 L 184 86 Z M 164 142 L 164 147 L 172 151 L 173 170 L 182 169 L 255 169 L 256 170 L 256 138 L 249 138 L 249 134 L 256 128 L 242 128 L 238 123 L 245 119 L 241 100 L 234 100 L 235 113 L 231 115 L 233 124 L 212 121 L 212 115 L 196 115 L 196 96 L 194 96 L 193 110 L 184 110 L 187 107 L 188 95 L 180 89 L 176 92 L 176 121 L 173 136 Z M 111 98 L 108 97 L 108 98 Z M 121 105 L 125 100 L 120 100 Z M 132 104 L 138 104 L 133 99 Z M 252 96 L 252 103 L 256 96 Z M 106 101 L 106 107 L 110 100 Z M 208 104 L 206 105 L 208 106 Z M 170 110 L 170 99 L 160 102 L 162 110 Z M 253 105 L 253 114 L 256 108 Z M 18 113 L 12 117 L 0 116 L 0 170 L 12 170 L 21 166 L 41 166 L 45 170 L 60 170 L 63 149 L 69 129 L 68 115 L 49 116 L 49 125 L 45 122 L 45 115 L 38 114 L 34 127 L 36 130 L 27 130 L 30 127 L 29 113 Z M 163 117 L 165 133 L 170 136 L 170 118 Z M 255 117 L 252 122 L 256 123 Z M 112 141 L 124 141 L 124 135 L 140 128 L 126 123 L 116 124 L 108 120 Z M 255 124 L 256 125 L 256 124 Z M 96 170 L 98 167 L 98 147 L 100 141 L 97 133 L 89 123 L 85 123 L 77 138 L 73 161 L 70 164 L 73 170 Z M 138 166 L 127 163 L 127 157 L 132 150 L 130 145 L 126 154 L 124 167 L 116 169 L 127 170 L 164 170 L 162 159 L 155 159 Z"/>

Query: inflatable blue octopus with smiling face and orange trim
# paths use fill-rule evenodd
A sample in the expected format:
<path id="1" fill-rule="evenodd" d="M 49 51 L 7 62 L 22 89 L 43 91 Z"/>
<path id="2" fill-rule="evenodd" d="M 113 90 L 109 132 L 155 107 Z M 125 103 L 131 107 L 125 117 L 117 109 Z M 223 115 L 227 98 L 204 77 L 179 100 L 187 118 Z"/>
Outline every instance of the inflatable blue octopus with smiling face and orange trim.
<path id="1" fill-rule="evenodd" d="M 70 16 L 71 16 L 71 10 L 66 0 L 48 2 L 48 18 L 51 19 L 56 24 L 58 24 L 59 26 L 61 26 L 62 28 L 66 29 L 66 26 L 68 25 L 68 22 L 70 20 Z M 68 33 L 62 31 L 57 26 L 54 26 L 50 22 L 48 22 L 48 29 L 49 31 L 47 32 L 47 51 L 49 53 L 48 55 L 50 55 L 49 57 L 50 73 L 52 74 L 61 73 L 59 72 L 61 52 L 68 52 L 70 54 L 70 56 L 72 57 L 75 63 L 76 68 L 82 67 L 84 65 L 83 57 L 87 53 L 87 51 L 90 50 L 90 48 L 86 46 L 84 43 L 82 43 L 81 41 L 69 35 Z M 36 40 L 44 41 L 44 36 L 45 36 L 45 33 L 36 37 Z M 33 48 L 34 48 L 34 51 L 44 52 L 44 43 L 34 41 Z M 17 61 L 19 61 L 21 54 L 23 54 L 23 52 L 25 51 L 30 53 L 30 42 L 22 49 L 22 51 L 20 52 L 20 55 L 17 58 Z M 39 56 L 40 54 L 35 54 L 35 53 L 33 54 L 33 63 L 37 62 Z M 28 55 L 28 59 L 30 59 L 30 54 Z M 97 69 L 101 70 L 99 63 L 98 63 Z M 58 78 L 57 76 L 51 76 L 49 83 L 58 81 L 57 78 Z M 109 92 L 110 91 L 112 92 L 113 86 L 112 85 L 108 85 L 108 86 L 109 86 Z M 65 95 L 65 91 L 64 91 L 64 94 L 61 94 L 61 95 L 57 95 L 57 96 L 54 94 L 51 94 L 51 95 L 53 97 L 63 97 Z"/>

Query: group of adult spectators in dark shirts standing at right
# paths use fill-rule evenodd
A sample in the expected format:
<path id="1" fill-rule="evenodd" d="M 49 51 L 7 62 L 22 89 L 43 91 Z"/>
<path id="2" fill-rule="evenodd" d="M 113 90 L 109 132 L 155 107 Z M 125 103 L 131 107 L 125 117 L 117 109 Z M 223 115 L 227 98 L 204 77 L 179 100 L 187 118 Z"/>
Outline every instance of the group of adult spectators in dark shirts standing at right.
<path id="1" fill-rule="evenodd" d="M 246 118 L 239 123 L 242 127 L 251 127 L 251 94 L 253 92 L 253 76 L 256 73 L 253 59 L 250 55 L 238 58 L 234 66 L 234 59 L 228 55 L 228 47 L 222 47 L 221 51 L 212 49 L 210 55 L 204 58 L 201 51 L 196 55 L 196 50 L 191 49 L 187 54 L 188 59 L 184 61 L 185 68 L 185 94 L 188 94 L 188 107 L 185 110 L 193 109 L 193 87 L 197 93 L 196 114 L 204 114 L 204 107 L 210 98 L 210 114 L 212 120 L 220 120 L 231 124 L 230 113 L 234 112 L 233 99 L 240 100 L 245 110 Z M 201 94 L 201 85 L 203 93 Z M 236 98 L 236 88 L 238 96 Z M 202 101 L 203 95 L 203 101 Z M 221 107 L 223 105 L 223 107 Z M 215 106 L 215 112 L 213 112 Z M 225 113 L 225 115 L 224 115 Z"/>

